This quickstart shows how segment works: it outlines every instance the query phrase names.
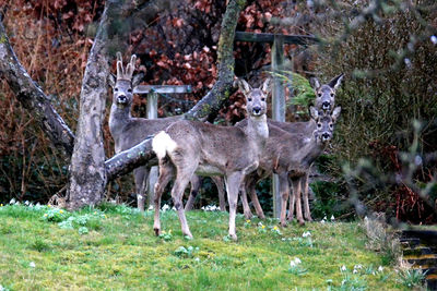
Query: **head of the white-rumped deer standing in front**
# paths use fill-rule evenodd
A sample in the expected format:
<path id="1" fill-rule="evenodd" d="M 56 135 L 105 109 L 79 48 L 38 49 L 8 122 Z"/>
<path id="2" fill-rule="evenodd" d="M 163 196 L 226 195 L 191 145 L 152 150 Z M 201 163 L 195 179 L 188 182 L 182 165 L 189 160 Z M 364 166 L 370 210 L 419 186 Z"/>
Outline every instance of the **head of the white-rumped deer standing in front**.
<path id="1" fill-rule="evenodd" d="M 261 117 L 267 112 L 267 96 L 270 78 L 267 78 L 259 88 L 252 88 L 246 81 L 239 78 L 238 87 L 246 97 L 246 111 L 250 117 Z"/>

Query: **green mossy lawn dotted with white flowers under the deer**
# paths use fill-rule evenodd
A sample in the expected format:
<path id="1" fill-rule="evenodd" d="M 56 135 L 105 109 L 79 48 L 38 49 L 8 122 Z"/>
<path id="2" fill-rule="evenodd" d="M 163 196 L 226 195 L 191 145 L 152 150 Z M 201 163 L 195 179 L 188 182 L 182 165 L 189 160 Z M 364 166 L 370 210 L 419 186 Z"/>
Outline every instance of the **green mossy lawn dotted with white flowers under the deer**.
<path id="1" fill-rule="evenodd" d="M 126 206 L 79 213 L 0 207 L 0 286 L 8 290 L 406 290 L 381 256 L 365 248 L 357 222 L 274 228 L 276 220 L 237 218 L 229 241 L 226 213 L 187 214 L 193 240 L 175 211 Z M 64 222 L 70 221 L 70 222 Z M 259 222 L 262 223 L 259 225 Z M 86 229 L 86 231 L 84 230 Z M 303 238 L 304 232 L 311 235 Z M 291 267 L 291 260 L 302 260 Z M 362 265 L 353 274 L 354 265 Z M 346 271 L 341 271 L 342 266 Z M 0 288 L 1 290 L 1 288 Z"/>

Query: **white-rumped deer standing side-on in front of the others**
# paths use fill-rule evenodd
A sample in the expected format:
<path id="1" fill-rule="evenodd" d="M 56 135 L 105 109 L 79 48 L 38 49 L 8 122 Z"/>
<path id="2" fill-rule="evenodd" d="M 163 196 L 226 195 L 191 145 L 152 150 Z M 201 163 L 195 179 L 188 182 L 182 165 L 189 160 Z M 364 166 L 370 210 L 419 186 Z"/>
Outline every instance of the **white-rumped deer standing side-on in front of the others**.
<path id="1" fill-rule="evenodd" d="M 161 195 L 168 181 L 176 175 L 172 189 L 184 235 L 192 238 L 181 204 L 184 189 L 191 177 L 224 177 L 229 205 L 228 235 L 237 240 L 235 217 L 238 190 L 244 178 L 258 168 L 263 147 L 269 137 L 267 125 L 267 94 L 269 78 L 259 88 L 238 80 L 238 87 L 246 97 L 247 124 L 245 126 L 220 126 L 200 121 L 181 120 L 169 125 L 153 137 L 152 149 L 160 163 L 155 184 L 154 225 L 161 233 Z"/>

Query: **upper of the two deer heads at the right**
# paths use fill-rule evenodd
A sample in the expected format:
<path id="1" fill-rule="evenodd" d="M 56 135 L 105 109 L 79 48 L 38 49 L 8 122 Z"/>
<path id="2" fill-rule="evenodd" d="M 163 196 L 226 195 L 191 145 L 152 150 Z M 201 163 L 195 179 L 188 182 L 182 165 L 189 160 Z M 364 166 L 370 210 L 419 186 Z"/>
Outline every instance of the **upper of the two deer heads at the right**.
<path id="1" fill-rule="evenodd" d="M 316 107 L 323 112 L 331 111 L 334 107 L 335 90 L 340 87 L 343 74 L 332 78 L 328 84 L 320 85 L 319 81 L 314 77 L 310 80 L 311 86 L 316 93 Z"/>

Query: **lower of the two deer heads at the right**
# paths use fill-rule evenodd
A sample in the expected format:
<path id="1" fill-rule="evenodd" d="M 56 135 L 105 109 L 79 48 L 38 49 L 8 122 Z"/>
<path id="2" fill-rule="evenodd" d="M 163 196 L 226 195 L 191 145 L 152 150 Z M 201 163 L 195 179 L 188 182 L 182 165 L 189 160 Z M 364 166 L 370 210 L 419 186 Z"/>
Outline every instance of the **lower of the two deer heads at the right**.
<path id="1" fill-rule="evenodd" d="M 315 107 L 309 107 L 309 114 L 311 119 L 316 122 L 317 128 L 314 132 L 317 142 L 327 144 L 332 138 L 332 133 L 334 131 L 334 124 L 340 116 L 341 107 L 335 107 L 332 112 L 323 112 L 317 110 Z"/>

